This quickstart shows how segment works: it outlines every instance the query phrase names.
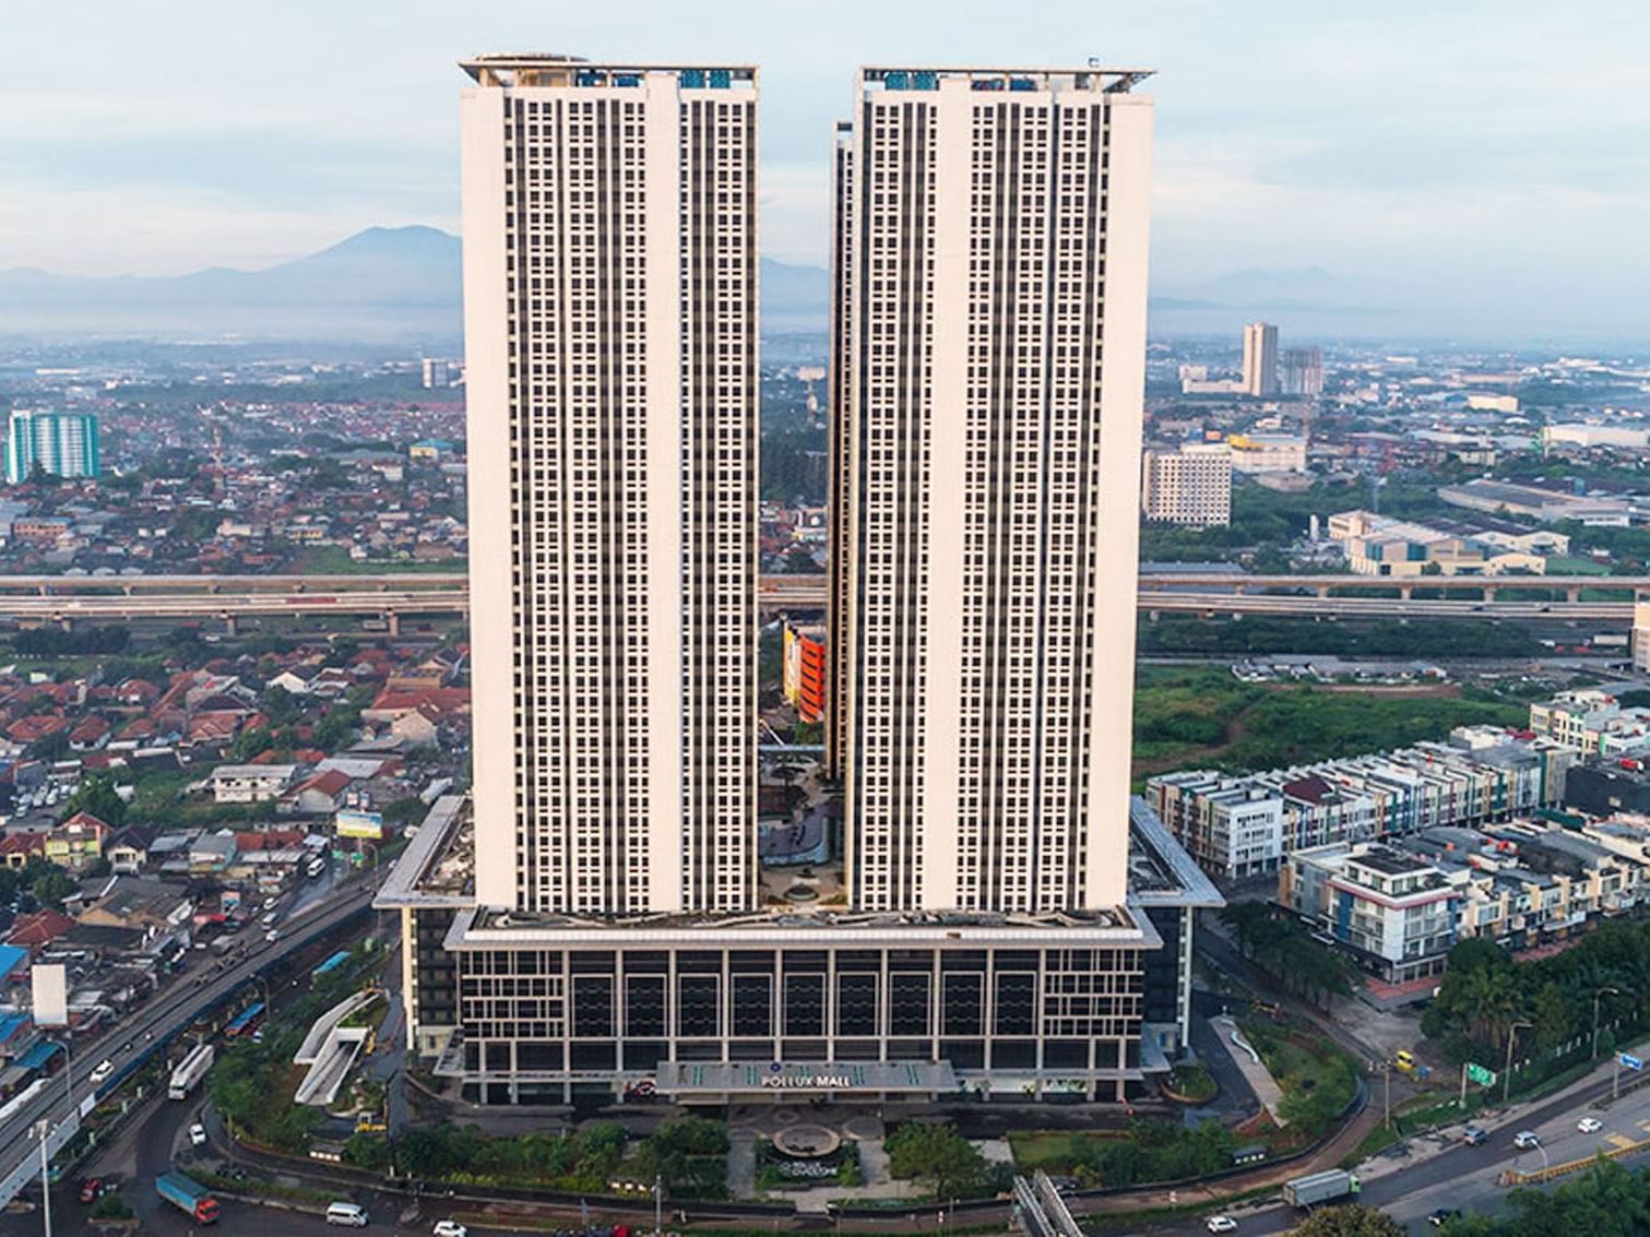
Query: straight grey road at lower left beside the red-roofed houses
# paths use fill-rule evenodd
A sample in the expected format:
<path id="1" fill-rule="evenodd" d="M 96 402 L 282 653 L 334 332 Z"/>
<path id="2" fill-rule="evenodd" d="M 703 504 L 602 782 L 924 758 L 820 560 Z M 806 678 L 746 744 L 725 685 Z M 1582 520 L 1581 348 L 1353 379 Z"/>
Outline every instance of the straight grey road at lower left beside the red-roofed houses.
<path id="1" fill-rule="evenodd" d="M 264 940 L 256 924 L 244 929 L 249 942 L 246 950 L 233 955 L 221 970 L 219 960 L 208 962 L 203 957 L 200 967 L 191 967 L 190 973 L 175 976 L 158 996 L 130 1018 L 114 1024 L 92 1044 L 78 1046 L 79 1051 L 69 1069 L 48 1079 L 40 1094 L 0 1123 L 0 1148 L 5 1148 L 0 1151 L 0 1176 L 12 1173 L 20 1161 L 38 1155 L 33 1150 L 38 1148 L 38 1138 L 31 1135 L 31 1130 L 40 1120 L 58 1125 L 66 1118 L 71 1089 L 76 1105 L 84 1103 L 92 1090 L 91 1074 L 99 1062 L 107 1059 L 114 1070 L 94 1090 L 111 1092 L 150 1056 L 163 1052 L 168 1041 L 203 1013 L 228 1001 L 239 988 L 254 981 L 289 953 L 304 948 L 340 922 L 361 914 L 371 902 L 371 896 L 373 886 L 366 881 L 348 887 L 325 905 L 284 924 L 282 937 L 274 943 Z"/>

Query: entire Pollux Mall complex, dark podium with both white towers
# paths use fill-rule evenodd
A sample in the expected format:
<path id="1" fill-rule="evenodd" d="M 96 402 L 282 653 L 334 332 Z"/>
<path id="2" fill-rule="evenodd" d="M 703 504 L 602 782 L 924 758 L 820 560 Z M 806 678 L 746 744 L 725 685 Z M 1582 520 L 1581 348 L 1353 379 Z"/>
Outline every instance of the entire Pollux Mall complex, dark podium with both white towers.
<path id="1" fill-rule="evenodd" d="M 419 1044 L 490 1102 L 1122 1098 L 1165 935 L 1129 882 L 1147 74 L 858 74 L 842 854 L 797 901 L 756 826 L 757 71 L 464 68 L 474 790 L 381 899 Z"/>

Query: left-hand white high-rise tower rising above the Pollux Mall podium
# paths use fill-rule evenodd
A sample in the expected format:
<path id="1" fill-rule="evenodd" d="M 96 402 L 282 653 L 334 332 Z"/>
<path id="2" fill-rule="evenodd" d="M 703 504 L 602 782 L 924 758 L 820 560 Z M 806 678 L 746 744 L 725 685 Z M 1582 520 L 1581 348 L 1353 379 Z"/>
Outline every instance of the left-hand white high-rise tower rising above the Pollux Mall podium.
<path id="1" fill-rule="evenodd" d="M 749 909 L 756 69 L 464 68 L 477 901 Z"/>

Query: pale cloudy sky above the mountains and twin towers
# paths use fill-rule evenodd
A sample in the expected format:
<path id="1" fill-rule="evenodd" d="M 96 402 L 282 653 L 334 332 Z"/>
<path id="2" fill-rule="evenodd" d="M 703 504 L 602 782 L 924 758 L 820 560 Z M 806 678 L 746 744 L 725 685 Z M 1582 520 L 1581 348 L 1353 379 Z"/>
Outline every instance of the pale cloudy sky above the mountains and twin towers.
<path id="1" fill-rule="evenodd" d="M 457 231 L 482 51 L 756 63 L 762 247 L 823 264 L 865 63 L 1152 68 L 1153 290 L 1320 267 L 1346 303 L 1650 341 L 1637 0 L 5 0 L 0 269 L 257 267 Z"/>

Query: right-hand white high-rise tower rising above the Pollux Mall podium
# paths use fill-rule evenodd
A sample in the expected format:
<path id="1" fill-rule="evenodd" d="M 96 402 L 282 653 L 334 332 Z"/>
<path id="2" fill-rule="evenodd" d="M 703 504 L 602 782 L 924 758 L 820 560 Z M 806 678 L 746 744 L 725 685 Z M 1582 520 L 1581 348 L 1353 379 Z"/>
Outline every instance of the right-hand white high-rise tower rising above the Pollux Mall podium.
<path id="1" fill-rule="evenodd" d="M 838 129 L 832 747 L 855 907 L 1124 902 L 1145 76 L 863 69 Z"/>

